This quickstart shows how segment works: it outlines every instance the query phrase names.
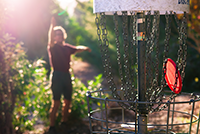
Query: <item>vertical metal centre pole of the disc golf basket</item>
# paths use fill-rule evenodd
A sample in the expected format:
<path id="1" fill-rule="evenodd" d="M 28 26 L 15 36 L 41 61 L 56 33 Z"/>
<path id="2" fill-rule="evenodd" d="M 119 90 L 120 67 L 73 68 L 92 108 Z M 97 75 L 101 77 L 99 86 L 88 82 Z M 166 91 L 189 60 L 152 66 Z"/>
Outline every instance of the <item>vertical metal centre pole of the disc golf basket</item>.
<path id="1" fill-rule="evenodd" d="M 138 31 L 138 100 L 146 102 L 146 65 L 145 65 L 145 15 L 142 12 L 137 13 L 137 31 Z M 147 111 L 145 104 L 138 105 L 138 133 L 147 133 Z"/>

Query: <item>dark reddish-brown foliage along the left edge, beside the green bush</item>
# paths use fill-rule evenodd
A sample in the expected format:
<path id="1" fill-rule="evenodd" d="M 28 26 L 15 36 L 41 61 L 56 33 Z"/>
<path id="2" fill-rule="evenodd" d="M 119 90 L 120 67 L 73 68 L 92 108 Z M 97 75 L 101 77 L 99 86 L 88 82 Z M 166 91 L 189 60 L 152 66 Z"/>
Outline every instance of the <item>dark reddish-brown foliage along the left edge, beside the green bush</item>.
<path id="1" fill-rule="evenodd" d="M 15 44 L 15 38 L 3 34 L 0 40 L 0 133 L 14 133 L 12 125 L 16 98 L 23 90 L 24 82 L 18 78 L 17 61 L 24 57 L 21 43 Z"/>

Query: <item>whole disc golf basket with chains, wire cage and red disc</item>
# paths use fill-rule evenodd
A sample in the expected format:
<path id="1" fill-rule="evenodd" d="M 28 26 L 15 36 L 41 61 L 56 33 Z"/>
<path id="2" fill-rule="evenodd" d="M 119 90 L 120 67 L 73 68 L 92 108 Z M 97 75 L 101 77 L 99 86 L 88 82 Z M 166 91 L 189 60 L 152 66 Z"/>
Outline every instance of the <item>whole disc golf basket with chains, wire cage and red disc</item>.
<path id="1" fill-rule="evenodd" d="M 181 92 L 186 67 L 188 12 L 188 0 L 94 0 L 98 42 L 109 89 L 87 93 L 91 133 L 168 134 L 186 131 L 198 134 L 199 113 L 194 113 L 194 109 L 200 97 Z M 183 14 L 181 20 L 177 14 Z M 115 26 L 120 86 L 115 83 L 112 72 L 106 26 L 106 21 L 111 20 L 107 20 L 107 15 L 113 16 Z M 169 55 L 172 24 L 178 31 L 173 43 L 177 46 L 173 47 L 177 49 L 175 58 Z M 165 35 L 162 43 L 159 40 L 161 33 Z M 102 98 L 109 91 L 113 98 Z M 96 94 L 98 97 L 94 97 Z M 187 96 L 188 100 L 176 99 L 180 95 Z M 98 102 L 97 109 L 91 108 L 91 100 Z M 109 110 L 113 109 L 110 103 L 118 104 L 122 121 L 109 119 Z M 179 110 L 184 105 L 191 107 L 190 112 Z M 126 110 L 135 115 L 131 122 L 124 120 Z M 95 117 L 95 113 L 101 116 Z M 160 116 L 155 120 L 151 115 Z M 166 120 L 162 120 L 163 116 Z M 188 121 L 178 122 L 180 118 Z M 101 123 L 100 131 L 93 130 L 93 121 Z M 188 129 L 179 130 L 179 126 L 188 126 Z"/>

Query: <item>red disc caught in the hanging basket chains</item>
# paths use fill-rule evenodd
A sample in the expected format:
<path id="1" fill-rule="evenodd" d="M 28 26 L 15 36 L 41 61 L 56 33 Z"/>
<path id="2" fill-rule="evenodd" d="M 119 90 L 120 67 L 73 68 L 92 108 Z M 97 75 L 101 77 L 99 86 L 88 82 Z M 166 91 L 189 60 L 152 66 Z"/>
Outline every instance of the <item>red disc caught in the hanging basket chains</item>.
<path id="1" fill-rule="evenodd" d="M 180 72 L 176 69 L 176 63 L 168 58 L 165 67 L 165 80 L 167 81 L 169 88 L 176 94 L 180 93 L 182 89 L 182 80 Z M 178 75 L 177 78 L 176 74 Z"/>

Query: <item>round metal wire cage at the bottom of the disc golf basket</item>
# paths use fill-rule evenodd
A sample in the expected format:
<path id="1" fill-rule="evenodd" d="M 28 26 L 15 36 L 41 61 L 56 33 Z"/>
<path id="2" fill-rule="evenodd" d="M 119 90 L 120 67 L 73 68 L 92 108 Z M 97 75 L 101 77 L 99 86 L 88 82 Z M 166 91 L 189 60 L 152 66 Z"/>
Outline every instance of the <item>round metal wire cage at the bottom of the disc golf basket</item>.
<path id="1" fill-rule="evenodd" d="M 152 112 L 147 115 L 147 133 L 198 134 L 200 110 L 195 109 L 199 109 L 200 96 L 182 92 L 172 101 L 168 101 L 168 92 L 165 92 L 166 100 L 162 103 L 162 105 L 167 104 L 168 107 L 162 109 L 162 111 Z M 137 123 L 139 113 L 125 109 L 119 103 L 135 103 L 136 106 L 141 103 L 149 103 L 116 100 L 108 98 L 107 94 L 110 94 L 110 90 L 99 89 L 94 92 L 87 92 L 91 134 L 139 134 L 139 124 Z M 184 98 L 181 99 L 182 96 Z M 151 103 L 160 105 L 160 103 L 156 102 Z"/>

